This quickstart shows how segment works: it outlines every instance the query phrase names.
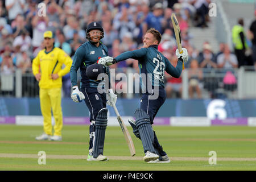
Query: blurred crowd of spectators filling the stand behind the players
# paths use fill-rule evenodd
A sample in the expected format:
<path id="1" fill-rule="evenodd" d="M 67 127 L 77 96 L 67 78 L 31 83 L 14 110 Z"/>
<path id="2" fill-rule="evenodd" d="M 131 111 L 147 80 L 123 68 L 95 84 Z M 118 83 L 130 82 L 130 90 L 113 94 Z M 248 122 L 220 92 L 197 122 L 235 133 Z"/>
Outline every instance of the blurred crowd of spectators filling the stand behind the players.
<path id="1" fill-rule="evenodd" d="M 39 16 L 39 3 L 46 5 L 46 16 Z M 180 24 L 183 47 L 188 49 L 189 96 L 193 90 L 201 97 L 203 72 L 197 68 L 237 68 L 237 57 L 227 44 L 220 44 L 220 51 L 214 53 L 210 43 L 205 42 L 203 50 L 193 45 L 190 27 L 208 27 L 208 5 L 210 0 L 0 0 L 0 63 L 1 73 L 11 73 L 15 68 L 22 73 L 31 72 L 31 61 L 44 48 L 43 32 L 55 34 L 55 47 L 62 48 L 69 56 L 86 42 L 86 26 L 97 21 L 104 27 L 102 42 L 109 48 L 109 56 L 142 47 L 147 28 L 154 27 L 162 33 L 159 51 L 176 66 L 176 40 L 171 23 L 175 13 Z M 122 61 L 112 68 L 123 72 L 126 68 L 138 71 L 135 60 Z M 167 75 L 166 75 L 167 76 Z M 181 96 L 182 78 L 166 77 L 167 97 L 172 92 Z M 69 75 L 63 77 L 65 94 L 69 97 Z M 125 86 L 125 85 L 123 85 Z M 64 90 L 65 90 L 64 89 Z"/>

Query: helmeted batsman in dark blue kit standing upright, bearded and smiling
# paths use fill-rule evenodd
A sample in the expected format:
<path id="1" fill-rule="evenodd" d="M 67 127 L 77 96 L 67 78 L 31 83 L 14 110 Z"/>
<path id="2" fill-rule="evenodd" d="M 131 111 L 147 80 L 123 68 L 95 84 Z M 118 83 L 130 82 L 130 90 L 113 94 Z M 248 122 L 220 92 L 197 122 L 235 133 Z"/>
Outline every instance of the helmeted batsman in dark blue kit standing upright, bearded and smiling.
<path id="1" fill-rule="evenodd" d="M 85 101 L 90 111 L 90 128 L 89 128 L 89 154 L 88 161 L 107 161 L 103 155 L 105 130 L 108 125 L 108 109 L 106 104 L 112 106 L 117 101 L 117 95 L 110 88 L 105 88 L 107 92 L 98 92 L 98 85 L 101 80 L 97 80 L 100 73 L 106 73 L 108 76 L 109 69 L 102 64 L 97 64 L 101 57 L 108 56 L 108 48 L 100 42 L 104 37 L 104 30 L 98 22 L 88 24 L 86 29 L 86 39 L 89 41 L 82 44 L 73 57 L 73 63 L 70 70 L 72 94 L 74 102 Z M 77 71 L 80 68 L 81 84 L 80 90 L 77 86 Z M 90 77 L 90 75 L 95 76 Z M 88 78 L 88 75 L 90 78 Z M 110 78 L 110 76 L 109 76 Z M 81 92 L 80 92 L 81 91 Z"/>

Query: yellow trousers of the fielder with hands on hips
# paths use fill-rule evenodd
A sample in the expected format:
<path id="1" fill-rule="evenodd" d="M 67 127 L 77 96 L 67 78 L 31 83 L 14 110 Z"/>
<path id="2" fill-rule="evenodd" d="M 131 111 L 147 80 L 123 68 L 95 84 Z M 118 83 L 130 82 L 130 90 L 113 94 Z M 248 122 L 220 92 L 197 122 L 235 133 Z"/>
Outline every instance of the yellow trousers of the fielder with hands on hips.
<path id="1" fill-rule="evenodd" d="M 39 90 L 40 107 L 44 118 L 44 132 L 52 135 L 52 114 L 55 119 L 54 135 L 61 136 L 63 118 L 61 110 L 61 88 Z"/>

